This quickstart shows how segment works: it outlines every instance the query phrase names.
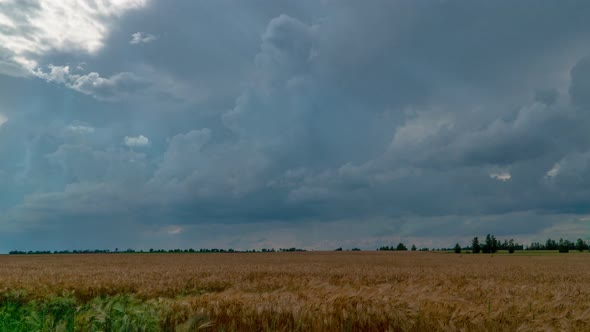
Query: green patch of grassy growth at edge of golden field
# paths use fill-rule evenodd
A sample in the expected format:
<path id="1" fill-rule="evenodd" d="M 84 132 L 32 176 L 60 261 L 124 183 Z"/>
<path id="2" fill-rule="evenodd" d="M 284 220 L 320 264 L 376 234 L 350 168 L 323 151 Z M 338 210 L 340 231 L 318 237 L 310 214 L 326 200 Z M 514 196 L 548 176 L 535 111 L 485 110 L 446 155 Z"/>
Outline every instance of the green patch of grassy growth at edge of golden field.
<path id="1" fill-rule="evenodd" d="M 0 331 L 197 331 L 210 327 L 203 315 L 186 315 L 165 300 L 131 295 L 96 297 L 81 303 L 72 296 L 25 300 L 15 292 L 0 303 Z"/>

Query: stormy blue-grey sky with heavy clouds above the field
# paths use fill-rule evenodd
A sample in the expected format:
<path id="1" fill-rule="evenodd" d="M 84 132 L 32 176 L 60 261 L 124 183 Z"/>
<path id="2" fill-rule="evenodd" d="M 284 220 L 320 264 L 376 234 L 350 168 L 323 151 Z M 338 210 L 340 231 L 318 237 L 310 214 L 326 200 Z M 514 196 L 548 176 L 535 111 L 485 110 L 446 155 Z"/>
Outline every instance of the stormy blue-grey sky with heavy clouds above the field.
<path id="1" fill-rule="evenodd" d="M 0 0 L 0 252 L 590 240 L 588 17 Z"/>

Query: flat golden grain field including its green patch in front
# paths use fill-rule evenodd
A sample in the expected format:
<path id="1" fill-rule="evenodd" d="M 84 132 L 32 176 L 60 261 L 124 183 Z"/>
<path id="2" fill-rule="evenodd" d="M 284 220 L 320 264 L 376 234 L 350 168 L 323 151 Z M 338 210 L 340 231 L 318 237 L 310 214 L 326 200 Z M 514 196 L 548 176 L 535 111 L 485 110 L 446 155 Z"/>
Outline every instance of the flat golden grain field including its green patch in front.
<path id="1" fill-rule="evenodd" d="M 0 296 L 15 331 L 580 331 L 590 254 L 3 255 Z"/>

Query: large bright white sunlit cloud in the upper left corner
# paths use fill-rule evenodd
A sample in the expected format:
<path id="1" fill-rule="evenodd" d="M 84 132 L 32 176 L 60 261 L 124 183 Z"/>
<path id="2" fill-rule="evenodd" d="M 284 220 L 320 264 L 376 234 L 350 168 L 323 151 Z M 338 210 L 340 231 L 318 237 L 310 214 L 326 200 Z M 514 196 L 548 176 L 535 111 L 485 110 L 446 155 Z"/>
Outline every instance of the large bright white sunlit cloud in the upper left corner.
<path id="1" fill-rule="evenodd" d="M 54 51 L 94 54 L 104 46 L 111 22 L 147 1 L 2 0 L 0 73 L 26 75 Z"/>

